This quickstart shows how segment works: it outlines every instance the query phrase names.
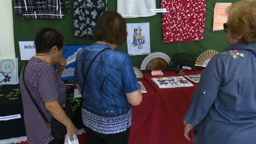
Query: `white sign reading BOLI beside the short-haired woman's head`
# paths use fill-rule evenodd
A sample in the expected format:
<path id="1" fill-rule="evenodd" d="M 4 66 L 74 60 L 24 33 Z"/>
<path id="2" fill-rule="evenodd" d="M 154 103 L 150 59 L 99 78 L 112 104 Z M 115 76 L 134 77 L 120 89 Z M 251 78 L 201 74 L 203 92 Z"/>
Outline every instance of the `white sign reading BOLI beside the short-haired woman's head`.
<path id="1" fill-rule="evenodd" d="M 20 60 L 30 60 L 36 54 L 34 41 L 19 41 L 19 52 Z"/>

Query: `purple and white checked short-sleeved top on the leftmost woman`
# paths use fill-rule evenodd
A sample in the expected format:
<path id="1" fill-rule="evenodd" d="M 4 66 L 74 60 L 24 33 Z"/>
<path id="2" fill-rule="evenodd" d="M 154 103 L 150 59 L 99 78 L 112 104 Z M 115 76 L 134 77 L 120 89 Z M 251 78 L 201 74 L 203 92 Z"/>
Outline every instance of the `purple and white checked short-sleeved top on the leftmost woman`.
<path id="1" fill-rule="evenodd" d="M 46 109 L 46 101 L 57 100 L 63 104 L 66 102 L 67 92 L 67 87 L 57 76 L 54 67 L 45 61 L 32 57 L 27 63 L 24 80 L 47 120 L 51 121 L 52 116 Z M 22 74 L 20 74 L 19 85 L 28 143 L 49 143 L 53 139 L 51 127 L 44 121 L 27 94 Z"/>

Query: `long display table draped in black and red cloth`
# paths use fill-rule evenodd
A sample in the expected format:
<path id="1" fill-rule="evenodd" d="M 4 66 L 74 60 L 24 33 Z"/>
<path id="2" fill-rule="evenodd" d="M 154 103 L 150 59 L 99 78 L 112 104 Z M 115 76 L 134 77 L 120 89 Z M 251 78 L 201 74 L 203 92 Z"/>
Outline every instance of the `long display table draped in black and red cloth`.
<path id="1" fill-rule="evenodd" d="M 163 71 L 160 77 L 177 76 L 176 71 Z M 187 70 L 185 75 L 200 74 L 201 70 Z M 133 124 L 130 132 L 130 144 L 191 144 L 183 136 L 183 116 L 188 109 L 189 101 L 197 84 L 193 87 L 164 88 L 160 89 L 151 81 L 151 73 L 143 73 L 144 78 L 138 79 L 147 90 L 143 95 L 142 103 L 133 106 Z M 77 128 L 82 128 L 81 98 L 73 98 L 73 90 L 68 91 L 68 100 L 75 105 L 75 122 Z M 10 100 L 9 100 L 10 99 Z M 0 117 L 16 115 L 21 118 L 9 121 L 0 121 L 0 144 L 8 138 L 24 139 L 22 99 L 18 85 L 5 85 L 0 87 Z M 80 133 L 82 131 L 80 130 Z M 79 141 L 85 143 L 85 134 L 78 136 Z M 1 140 L 2 139 L 2 140 Z M 15 140 L 15 141 L 16 141 Z M 25 139 L 26 141 L 26 139 Z M 25 144 L 27 142 L 22 142 Z"/>

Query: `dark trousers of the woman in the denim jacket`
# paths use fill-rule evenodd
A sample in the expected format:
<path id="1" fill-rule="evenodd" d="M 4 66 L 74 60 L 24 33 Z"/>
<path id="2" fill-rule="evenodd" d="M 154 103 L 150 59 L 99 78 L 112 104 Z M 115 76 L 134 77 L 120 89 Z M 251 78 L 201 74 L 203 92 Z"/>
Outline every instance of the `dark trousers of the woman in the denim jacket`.
<path id="1" fill-rule="evenodd" d="M 116 134 L 101 134 L 85 126 L 86 144 L 128 144 L 130 128 Z"/>

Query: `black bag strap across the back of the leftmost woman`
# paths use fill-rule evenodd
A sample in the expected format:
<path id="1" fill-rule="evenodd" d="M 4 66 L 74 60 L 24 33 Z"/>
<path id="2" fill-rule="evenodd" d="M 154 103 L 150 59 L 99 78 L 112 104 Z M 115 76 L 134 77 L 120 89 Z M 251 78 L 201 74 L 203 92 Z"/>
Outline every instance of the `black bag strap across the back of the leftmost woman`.
<path id="1" fill-rule="evenodd" d="M 28 63 L 28 62 L 27 62 L 27 63 Z M 23 72 L 22 72 L 22 77 L 23 77 L 24 86 L 25 86 L 25 88 L 26 88 L 27 94 L 30 96 L 30 99 L 31 99 L 31 100 L 33 101 L 33 103 L 35 104 L 36 109 L 38 109 L 38 112 L 39 112 L 40 115 L 44 118 L 44 121 L 46 121 L 46 123 L 49 124 L 49 122 L 48 122 L 48 120 L 47 120 L 47 118 L 46 118 L 46 115 L 44 115 L 44 112 L 43 112 L 42 109 L 39 107 L 38 103 L 36 103 L 35 98 L 31 95 L 30 90 L 28 90 L 28 87 L 27 87 L 27 84 L 26 84 L 26 81 L 25 81 L 25 77 L 24 77 L 24 73 L 25 73 L 25 69 L 26 69 L 27 63 L 24 65 L 24 67 L 23 67 Z"/>

